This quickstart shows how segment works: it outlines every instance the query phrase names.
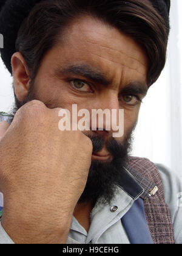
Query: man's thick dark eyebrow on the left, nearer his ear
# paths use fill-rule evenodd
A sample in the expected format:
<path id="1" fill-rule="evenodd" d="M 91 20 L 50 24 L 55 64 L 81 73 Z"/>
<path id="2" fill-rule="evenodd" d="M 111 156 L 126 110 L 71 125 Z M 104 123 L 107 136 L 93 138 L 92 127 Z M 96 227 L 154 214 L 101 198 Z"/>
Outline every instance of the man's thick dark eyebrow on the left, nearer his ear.
<path id="1" fill-rule="evenodd" d="M 56 74 L 62 75 L 79 75 L 85 77 L 86 79 L 92 80 L 97 84 L 101 84 L 104 86 L 109 86 L 111 81 L 104 76 L 103 73 L 98 71 L 97 69 L 92 68 L 89 65 L 70 65 L 66 68 L 56 69 Z"/>

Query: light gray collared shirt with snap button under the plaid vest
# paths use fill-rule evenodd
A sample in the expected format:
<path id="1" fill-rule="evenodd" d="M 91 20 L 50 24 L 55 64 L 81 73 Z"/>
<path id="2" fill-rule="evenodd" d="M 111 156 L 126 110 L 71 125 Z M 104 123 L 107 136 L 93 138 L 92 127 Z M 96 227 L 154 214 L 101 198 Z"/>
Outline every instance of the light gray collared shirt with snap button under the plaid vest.
<path id="1" fill-rule="evenodd" d="M 175 172 L 170 172 L 162 165 L 157 166 L 163 180 L 165 199 L 174 225 L 175 243 L 182 244 L 182 177 Z M 129 244 L 121 218 L 132 207 L 133 202 L 134 199 L 118 187 L 110 205 L 96 204 L 93 208 L 88 233 L 74 217 L 72 218 L 67 244 Z M 110 211 L 113 205 L 118 206 L 116 212 Z M 0 244 L 4 243 L 11 244 L 13 241 L 0 225 Z"/>

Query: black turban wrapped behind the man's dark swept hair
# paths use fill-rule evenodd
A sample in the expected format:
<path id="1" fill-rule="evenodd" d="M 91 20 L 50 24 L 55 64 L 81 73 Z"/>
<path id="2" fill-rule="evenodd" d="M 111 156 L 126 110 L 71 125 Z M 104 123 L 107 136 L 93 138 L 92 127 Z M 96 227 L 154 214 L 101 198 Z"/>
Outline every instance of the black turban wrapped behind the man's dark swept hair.
<path id="1" fill-rule="evenodd" d="M 0 0 L 0 34 L 4 37 L 1 58 L 10 73 L 12 73 L 11 57 L 16 52 L 18 30 L 33 6 L 40 1 L 42 0 Z M 150 0 L 150 2 L 164 18 L 169 33 L 170 0 Z"/>

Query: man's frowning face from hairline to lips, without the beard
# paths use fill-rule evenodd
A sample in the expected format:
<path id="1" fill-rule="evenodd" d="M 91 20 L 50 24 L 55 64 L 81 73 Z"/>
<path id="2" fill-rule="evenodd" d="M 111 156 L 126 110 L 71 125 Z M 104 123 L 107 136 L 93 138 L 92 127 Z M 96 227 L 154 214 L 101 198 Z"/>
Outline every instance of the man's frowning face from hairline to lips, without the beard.
<path id="1" fill-rule="evenodd" d="M 113 139 L 113 130 L 86 132 L 90 138 L 101 138 L 93 162 L 108 167 L 116 155 L 107 144 L 116 141 L 126 147 L 147 93 L 146 78 L 143 49 L 114 27 L 85 16 L 67 27 L 45 55 L 33 84 L 33 98 L 70 113 L 72 104 L 77 104 L 78 110 L 89 110 L 90 118 L 92 109 L 124 109 L 123 137 Z"/>

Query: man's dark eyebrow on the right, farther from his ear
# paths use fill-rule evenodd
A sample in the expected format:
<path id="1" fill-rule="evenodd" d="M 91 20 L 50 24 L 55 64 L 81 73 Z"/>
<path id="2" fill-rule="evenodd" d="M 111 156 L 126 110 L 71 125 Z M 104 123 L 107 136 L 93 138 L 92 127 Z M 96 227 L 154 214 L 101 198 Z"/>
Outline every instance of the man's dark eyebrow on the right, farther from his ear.
<path id="1" fill-rule="evenodd" d="M 148 90 L 149 87 L 147 87 L 147 84 L 145 82 L 134 81 L 125 85 L 121 89 L 120 94 L 141 94 L 143 96 L 146 96 Z"/>

